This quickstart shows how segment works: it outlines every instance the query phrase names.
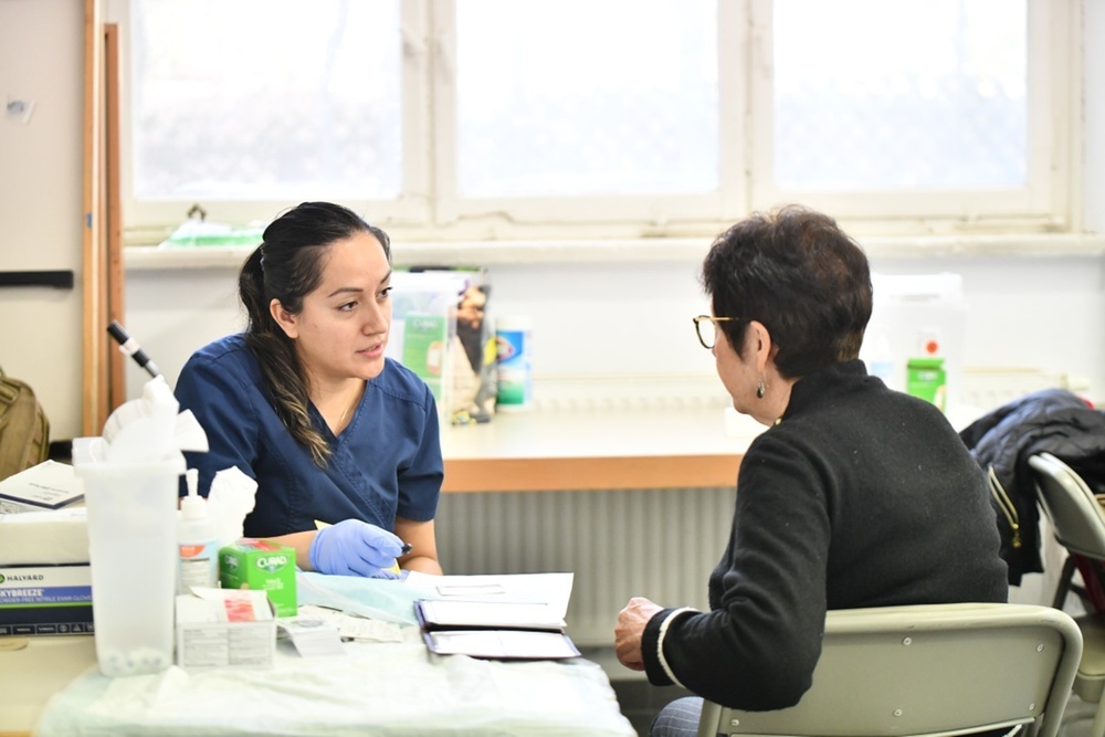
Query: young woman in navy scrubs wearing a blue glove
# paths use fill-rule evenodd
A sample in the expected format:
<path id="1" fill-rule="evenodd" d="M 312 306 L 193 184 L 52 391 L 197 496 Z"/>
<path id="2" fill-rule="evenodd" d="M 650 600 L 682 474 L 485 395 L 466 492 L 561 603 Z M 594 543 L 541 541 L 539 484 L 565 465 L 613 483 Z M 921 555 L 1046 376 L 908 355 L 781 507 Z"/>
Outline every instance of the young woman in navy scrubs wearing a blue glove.
<path id="1" fill-rule="evenodd" d="M 382 230 L 338 204 L 293 208 L 242 267 L 245 331 L 196 351 L 177 381 L 210 444 L 187 454 L 200 493 L 232 466 L 256 480 L 244 534 L 294 547 L 304 570 L 441 572 L 438 410 L 385 357 L 390 281 Z"/>

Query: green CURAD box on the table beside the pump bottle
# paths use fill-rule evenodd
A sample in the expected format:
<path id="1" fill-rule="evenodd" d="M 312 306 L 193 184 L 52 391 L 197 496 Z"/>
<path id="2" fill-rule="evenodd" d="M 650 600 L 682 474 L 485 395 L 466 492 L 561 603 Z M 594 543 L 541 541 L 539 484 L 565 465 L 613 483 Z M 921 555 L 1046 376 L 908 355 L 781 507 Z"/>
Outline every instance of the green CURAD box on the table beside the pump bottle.
<path id="1" fill-rule="evenodd" d="M 219 550 L 219 580 L 224 589 L 264 591 L 277 617 L 295 617 L 295 549 L 251 537 Z"/>

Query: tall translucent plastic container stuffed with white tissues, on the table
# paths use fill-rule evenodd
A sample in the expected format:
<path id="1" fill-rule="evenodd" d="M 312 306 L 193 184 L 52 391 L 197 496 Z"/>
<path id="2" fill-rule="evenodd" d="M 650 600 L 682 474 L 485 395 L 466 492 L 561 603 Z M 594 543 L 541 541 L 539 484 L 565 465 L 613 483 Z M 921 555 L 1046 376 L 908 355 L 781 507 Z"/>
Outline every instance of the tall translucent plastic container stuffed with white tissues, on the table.
<path id="1" fill-rule="evenodd" d="M 102 436 L 73 441 L 88 515 L 96 660 L 105 675 L 172 664 L 181 451 L 207 451 L 202 429 L 178 409 L 157 377 L 140 399 L 112 413 Z"/>

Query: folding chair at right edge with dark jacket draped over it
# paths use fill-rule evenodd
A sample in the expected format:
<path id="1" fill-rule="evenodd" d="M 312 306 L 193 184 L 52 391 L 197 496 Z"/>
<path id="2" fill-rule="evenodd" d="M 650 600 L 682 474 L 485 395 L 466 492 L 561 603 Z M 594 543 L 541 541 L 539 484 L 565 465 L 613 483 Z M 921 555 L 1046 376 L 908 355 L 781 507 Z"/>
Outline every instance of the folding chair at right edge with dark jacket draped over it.
<path id="1" fill-rule="evenodd" d="M 1051 520 L 1055 539 L 1067 550 L 1063 572 L 1052 606 L 1062 609 L 1066 596 L 1077 591 L 1073 585 L 1074 556 L 1083 556 L 1093 562 L 1105 561 L 1105 512 L 1085 481 L 1069 465 L 1050 453 L 1038 453 L 1029 457 L 1036 482 L 1036 493 L 1044 514 Z M 1092 607 L 1087 607 L 1093 611 Z M 1078 673 L 1074 678 L 1074 693 L 1090 704 L 1097 704 L 1093 737 L 1105 737 L 1105 614 L 1090 613 L 1076 617 L 1082 630 L 1083 651 Z"/>

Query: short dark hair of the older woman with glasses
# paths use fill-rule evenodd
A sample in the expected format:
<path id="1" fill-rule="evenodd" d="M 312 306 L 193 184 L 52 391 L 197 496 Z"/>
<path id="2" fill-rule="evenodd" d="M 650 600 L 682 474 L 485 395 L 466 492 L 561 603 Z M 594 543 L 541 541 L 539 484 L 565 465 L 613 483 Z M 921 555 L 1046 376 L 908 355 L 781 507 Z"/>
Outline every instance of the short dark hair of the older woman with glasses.
<path id="1" fill-rule="evenodd" d="M 738 354 L 749 319 L 778 346 L 775 364 L 800 378 L 860 355 L 871 319 L 863 250 L 823 213 L 797 204 L 753 213 L 714 240 L 702 284 Z"/>

